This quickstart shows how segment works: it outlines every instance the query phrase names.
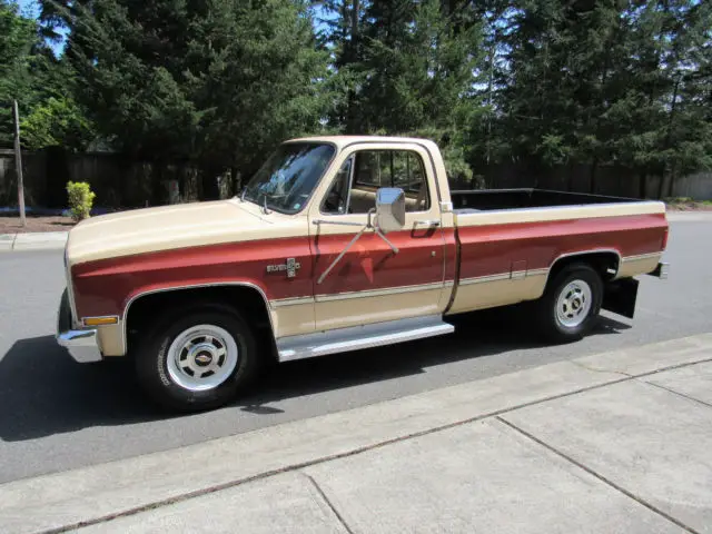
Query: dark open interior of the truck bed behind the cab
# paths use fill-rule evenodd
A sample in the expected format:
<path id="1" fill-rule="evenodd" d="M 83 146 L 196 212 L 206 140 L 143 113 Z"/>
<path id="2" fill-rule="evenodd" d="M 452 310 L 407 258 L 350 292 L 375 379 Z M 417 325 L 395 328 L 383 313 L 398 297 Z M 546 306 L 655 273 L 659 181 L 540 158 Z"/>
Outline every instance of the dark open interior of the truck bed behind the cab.
<path id="1" fill-rule="evenodd" d="M 500 209 L 548 208 L 594 204 L 642 202 L 633 198 L 586 195 L 547 189 L 475 189 L 451 191 L 453 208 L 461 212 Z"/>

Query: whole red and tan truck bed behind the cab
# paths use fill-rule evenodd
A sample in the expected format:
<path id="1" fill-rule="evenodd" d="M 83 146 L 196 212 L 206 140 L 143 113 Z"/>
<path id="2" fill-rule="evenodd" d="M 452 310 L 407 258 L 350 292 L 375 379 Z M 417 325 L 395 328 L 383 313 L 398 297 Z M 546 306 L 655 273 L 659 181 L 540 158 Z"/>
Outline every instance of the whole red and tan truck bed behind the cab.
<path id="1" fill-rule="evenodd" d="M 459 270 L 448 314 L 537 299 L 556 261 L 572 256 L 597 255 L 619 278 L 651 273 L 665 247 L 659 201 L 541 189 L 451 195 Z"/>

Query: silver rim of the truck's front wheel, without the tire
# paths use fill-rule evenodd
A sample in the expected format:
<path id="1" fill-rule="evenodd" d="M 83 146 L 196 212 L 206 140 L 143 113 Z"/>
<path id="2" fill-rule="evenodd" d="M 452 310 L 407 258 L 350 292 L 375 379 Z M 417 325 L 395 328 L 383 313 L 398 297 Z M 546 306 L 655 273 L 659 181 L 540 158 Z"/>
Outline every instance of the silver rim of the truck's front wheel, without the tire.
<path id="1" fill-rule="evenodd" d="M 233 335 L 215 325 L 196 325 L 181 332 L 167 354 L 174 383 L 191 392 L 214 389 L 237 367 L 239 352 Z"/>

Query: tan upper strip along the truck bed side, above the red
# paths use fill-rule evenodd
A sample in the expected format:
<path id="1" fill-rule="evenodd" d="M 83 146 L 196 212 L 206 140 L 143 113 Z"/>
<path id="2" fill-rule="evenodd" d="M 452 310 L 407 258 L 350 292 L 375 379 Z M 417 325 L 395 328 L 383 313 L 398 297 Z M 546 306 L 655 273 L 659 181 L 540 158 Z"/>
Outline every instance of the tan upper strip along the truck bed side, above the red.
<path id="1" fill-rule="evenodd" d="M 458 227 L 466 227 L 664 212 L 665 205 L 657 201 L 599 204 L 593 206 L 555 206 L 551 208 L 492 210 L 476 214 L 458 214 L 455 211 L 455 222 Z"/>

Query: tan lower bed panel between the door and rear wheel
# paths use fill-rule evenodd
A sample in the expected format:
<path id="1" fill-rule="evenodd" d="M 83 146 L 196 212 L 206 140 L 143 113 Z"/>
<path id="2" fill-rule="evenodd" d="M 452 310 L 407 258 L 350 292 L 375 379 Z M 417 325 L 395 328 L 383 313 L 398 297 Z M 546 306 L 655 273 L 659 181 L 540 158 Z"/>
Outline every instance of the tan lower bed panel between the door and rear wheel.
<path id="1" fill-rule="evenodd" d="M 533 300 L 542 296 L 545 285 L 545 274 L 516 280 L 503 279 L 462 285 L 457 288 L 457 295 L 447 315 Z"/>

